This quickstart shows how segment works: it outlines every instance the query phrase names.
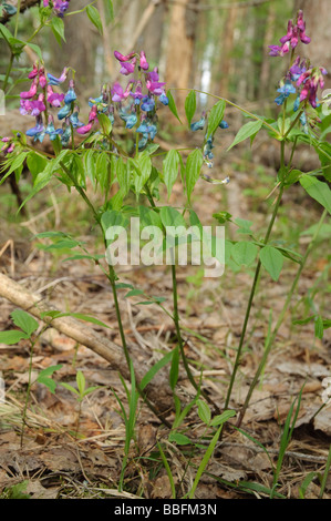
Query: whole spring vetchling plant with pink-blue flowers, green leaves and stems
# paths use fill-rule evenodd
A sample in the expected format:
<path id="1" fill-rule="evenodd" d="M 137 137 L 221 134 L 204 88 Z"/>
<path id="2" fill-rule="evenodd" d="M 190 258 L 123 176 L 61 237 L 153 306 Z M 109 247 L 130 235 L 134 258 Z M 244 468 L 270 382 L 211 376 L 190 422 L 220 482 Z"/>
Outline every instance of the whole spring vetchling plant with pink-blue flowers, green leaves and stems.
<path id="1" fill-rule="evenodd" d="M 44 6 L 44 8 L 46 7 Z M 61 7 L 59 9 L 56 19 L 60 18 L 61 20 Z M 93 19 L 91 9 L 89 16 Z M 95 17 L 94 23 L 97 24 Z M 9 45 L 13 45 L 13 41 L 8 35 L 7 40 Z M 158 151 L 158 145 L 154 142 L 154 139 L 157 134 L 159 108 L 168 108 L 179 121 L 180 119 L 173 95 L 174 90 L 166 90 L 165 82 L 159 79 L 157 68 L 151 70 L 144 51 L 131 52 L 126 55 L 118 51 L 114 52 L 120 64 L 120 72 L 125 78 L 125 83 L 122 84 L 122 82 L 116 81 L 111 85 L 102 85 L 95 98 L 90 98 L 87 101 L 89 115 L 86 119 L 81 116 L 83 105 L 75 92 L 75 71 L 70 65 L 65 65 L 60 76 L 56 78 L 46 71 L 40 55 L 39 61 L 33 64 L 28 74 L 29 86 L 20 93 L 21 114 L 34 118 L 34 125 L 31 125 L 27 134 L 15 130 L 12 135 L 2 137 L 2 153 L 6 154 L 6 161 L 2 165 L 2 172 L 4 173 L 2 182 L 12 174 L 19 178 L 23 163 L 27 162 L 32 174 L 33 188 L 23 204 L 44 188 L 53 178 L 63 183 L 69 191 L 74 188 L 91 213 L 91 223 L 99 226 L 105 249 L 113 241 L 108 238 L 107 231 L 114 226 L 127 228 L 132 216 L 138 216 L 142 226 L 156 226 L 162 234 L 165 233 L 167 226 L 173 225 L 187 226 L 187 224 L 195 224 L 201 227 L 201 222 L 192 205 L 192 195 L 197 181 L 201 177 L 215 185 L 227 185 L 230 181 L 228 176 L 219 180 L 213 178 L 205 174 L 203 170 L 204 165 L 207 165 L 210 170 L 213 168 L 215 134 L 228 127 L 225 120 L 227 105 L 236 108 L 249 120 L 239 129 L 228 150 L 245 140 L 250 140 L 252 143 L 256 135 L 262 131 L 280 144 L 280 168 L 273 186 L 270 187 L 275 203 L 263 236 L 256 236 L 250 229 L 249 222 L 236 221 L 221 208 L 214 215 L 216 222 L 220 224 L 226 225 L 234 222 L 238 225 L 238 231 L 244 232 L 245 235 L 244 241 L 226 241 L 226 258 L 244 266 L 251 266 L 256 263 L 239 345 L 224 403 L 215 403 L 210 396 L 203 391 L 200 382 L 196 381 L 190 370 L 180 330 L 175 260 L 172 263 L 173 313 L 169 313 L 163 306 L 163 297 L 147 295 L 146 299 L 151 304 L 159 305 L 165 313 L 170 315 L 175 326 L 177 346 L 170 355 L 166 355 L 154 369 L 152 368 L 146 374 L 144 381 L 139 385 L 133 374 L 133 362 L 118 304 L 118 290 L 126 287 L 126 285 L 118 282 L 118 276 L 112 264 L 108 264 L 106 268 L 103 267 L 99 256 L 89 255 L 86 251 L 74 256 L 75 258 L 90 257 L 103 269 L 110 282 L 123 354 L 132 375 L 132 381 L 135 384 L 135 389 L 146 399 L 147 403 L 148 400 L 144 392 L 146 385 L 152 382 L 157 369 L 165 364 L 170 364 L 169 380 L 174 392 L 177 420 L 183 418 L 180 402 L 175 392 L 179 359 L 182 359 L 187 377 L 196 390 L 193 405 L 196 405 L 198 399 L 204 398 L 214 407 L 216 413 L 227 411 L 230 408 L 234 385 L 242 359 L 242 349 L 261 270 L 266 269 L 271 278 L 277 282 L 283 262 L 288 259 L 298 265 L 297 274 L 288 290 L 285 306 L 276 326 L 269 331 L 263 355 L 252 378 L 245 403 L 241 410 L 238 411 L 237 427 L 241 425 L 251 394 L 263 371 L 308 255 L 316 245 L 327 214 L 331 213 L 331 192 L 325 182 L 330 181 L 331 145 L 320 136 L 324 115 L 323 103 L 320 103 L 318 99 L 319 89 L 324 86 L 327 70 L 323 67 L 311 64 L 309 59 L 301 54 L 301 51 L 299 53 L 302 44 L 308 45 L 309 43 L 310 38 L 306 34 L 303 14 L 302 11 L 299 11 L 294 20 L 289 21 L 287 34 L 280 39 L 280 45 L 270 45 L 270 57 L 281 58 L 286 62 L 285 75 L 279 82 L 278 95 L 275 100 L 280 108 L 279 116 L 276 120 L 250 113 L 236 103 L 221 98 L 221 95 L 210 93 L 204 94 L 208 94 L 216 100 L 216 103 L 201 115 L 196 115 L 196 94 L 200 91 L 189 90 L 185 102 L 185 113 L 188 127 L 193 132 L 204 132 L 200 147 L 186 151 L 173 149 L 164 154 Z M 18 45 L 18 43 L 15 44 Z M 4 86 L 7 86 L 10 71 L 11 67 L 8 69 Z M 124 150 L 116 140 L 115 130 L 118 124 L 124 126 L 128 135 L 134 139 L 131 153 Z M 50 141 L 52 153 L 44 152 L 39 146 L 39 143 L 43 143 L 45 140 Z M 314 149 L 321 163 L 319 168 L 308 173 L 296 168 L 294 152 L 302 144 Z M 289 150 L 289 154 L 287 154 L 287 150 Z M 189 152 L 188 155 L 187 152 Z M 164 157 L 159 168 L 159 157 L 162 155 Z M 289 160 L 287 160 L 288 156 Z M 172 207 L 168 201 L 163 201 L 163 191 L 161 190 L 165 185 L 167 197 L 169 197 L 178 176 L 183 183 L 186 197 L 182 212 Z M 324 177 L 325 181 L 321 181 L 321 177 Z M 90 183 L 102 196 L 100 206 L 95 206 L 95 203 L 89 196 L 87 185 Z M 282 204 L 283 193 L 294 183 L 299 183 L 307 194 L 323 207 L 320 222 L 316 226 L 312 239 L 303 255 L 272 239 L 272 231 L 279 207 Z M 127 203 L 130 194 L 134 194 L 136 204 Z M 68 239 L 61 232 L 58 234 L 44 233 L 43 236 L 54 239 L 54 247 L 58 248 L 62 246 L 84 248 L 82 243 L 72 238 Z M 174 242 L 173 249 L 175 249 L 175 245 L 176 242 Z M 213 252 L 215 252 L 215 248 L 211 247 Z M 138 288 L 133 286 L 130 289 L 131 292 L 126 296 L 142 294 Z M 153 410 L 153 405 L 149 403 L 149 406 Z M 157 411 L 155 412 L 157 413 Z M 229 413 L 230 416 L 232 415 Z M 172 427 L 167 420 L 162 419 L 168 427 Z M 217 436 L 215 435 L 216 437 L 213 438 L 213 447 L 215 447 L 221 429 L 218 429 Z M 209 458 L 211 451 L 207 453 Z M 204 461 L 205 463 L 206 461 Z"/>

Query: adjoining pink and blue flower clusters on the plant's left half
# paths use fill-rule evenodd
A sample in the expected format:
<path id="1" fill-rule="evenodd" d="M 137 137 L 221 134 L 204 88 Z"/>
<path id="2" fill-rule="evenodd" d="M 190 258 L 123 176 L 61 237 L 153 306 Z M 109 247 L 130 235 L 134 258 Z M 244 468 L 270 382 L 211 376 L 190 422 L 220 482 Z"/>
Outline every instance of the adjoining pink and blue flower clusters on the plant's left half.
<path id="1" fill-rule="evenodd" d="M 86 124 L 79 119 L 80 108 L 76 102 L 74 80 L 69 80 L 66 93 L 54 92 L 53 89 L 68 80 L 71 69 L 64 68 L 62 74 L 55 78 L 51 73 L 45 73 L 43 65 L 35 63 L 28 76 L 32 80 L 30 89 L 20 93 L 21 114 L 35 118 L 35 125 L 27 131 L 27 135 L 40 142 L 45 135 L 49 135 L 51 141 L 59 136 L 62 145 L 66 146 L 73 131 L 85 135 L 92 130 L 97 114 L 107 115 L 113 124 L 116 111 L 125 122 L 126 129 L 136 127 L 136 132 L 141 134 L 139 150 L 146 146 L 148 140 L 153 141 L 157 132 L 156 101 L 159 100 L 164 105 L 168 104 L 165 83 L 158 81 L 157 68 L 149 71 L 143 51 L 139 54 L 133 52 L 128 55 L 115 51 L 114 54 L 121 63 L 121 73 L 130 76 L 127 85 L 125 89 L 118 82 L 112 88 L 103 85 L 99 98 L 90 98 L 91 109 Z M 62 122 L 62 126 L 58 129 L 54 115 L 51 114 L 54 109 L 58 110 L 58 120 Z M 7 141 L 3 146 L 4 153 L 12 152 L 8 143 Z"/>

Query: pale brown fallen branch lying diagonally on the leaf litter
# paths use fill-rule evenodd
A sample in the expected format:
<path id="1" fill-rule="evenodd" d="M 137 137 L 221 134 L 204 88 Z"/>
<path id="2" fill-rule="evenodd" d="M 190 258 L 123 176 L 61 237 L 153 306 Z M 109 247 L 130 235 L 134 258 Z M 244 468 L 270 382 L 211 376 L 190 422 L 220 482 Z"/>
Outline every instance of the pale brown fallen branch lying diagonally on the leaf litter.
<path id="1" fill-rule="evenodd" d="M 0 297 L 7 298 L 15 306 L 42 319 L 44 323 L 46 323 L 48 318 L 41 318 L 41 315 L 55 309 L 40 295 L 29 292 L 22 287 L 21 284 L 18 284 L 3 274 L 0 274 Z M 118 370 L 123 378 L 130 379 L 126 360 L 121 346 L 73 317 L 55 318 L 51 323 L 51 326 L 58 329 L 58 331 L 74 339 L 82 346 L 89 347 L 92 351 L 107 360 L 112 369 Z M 130 346 L 130 355 L 134 364 L 137 381 L 141 381 L 148 370 L 147 365 L 142 360 L 142 350 L 137 346 Z M 148 400 L 154 405 L 157 411 L 163 413 L 172 410 L 173 394 L 166 370 L 159 370 L 155 375 L 153 382 L 146 387 L 145 391 Z"/>

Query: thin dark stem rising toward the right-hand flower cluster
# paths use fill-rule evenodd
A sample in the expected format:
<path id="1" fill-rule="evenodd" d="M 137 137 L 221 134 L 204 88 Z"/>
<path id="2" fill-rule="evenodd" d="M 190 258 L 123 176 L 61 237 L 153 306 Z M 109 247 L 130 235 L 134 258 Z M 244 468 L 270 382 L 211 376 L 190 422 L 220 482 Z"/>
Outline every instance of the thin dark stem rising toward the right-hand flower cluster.
<path id="1" fill-rule="evenodd" d="M 283 164 L 283 146 L 282 146 L 281 156 L 282 156 L 282 164 Z M 273 223 L 275 223 L 275 219 L 276 219 L 276 216 L 277 216 L 277 213 L 278 213 L 278 208 L 279 208 L 279 205 L 280 205 L 280 202 L 281 202 L 282 193 L 283 193 L 283 184 L 280 185 L 280 190 L 279 190 L 279 194 L 278 194 L 278 197 L 277 197 L 277 201 L 276 201 L 276 204 L 275 204 L 271 221 L 269 223 L 269 226 L 268 226 L 268 229 L 267 229 L 267 233 L 266 233 L 266 236 L 265 236 L 265 241 L 263 241 L 265 245 L 268 244 L 268 241 L 269 241 L 272 227 L 273 227 Z M 250 311 L 251 311 L 252 300 L 254 300 L 254 297 L 255 297 L 255 294 L 256 294 L 256 288 L 257 288 L 257 285 L 258 285 L 260 269 L 261 269 L 261 260 L 259 259 L 258 264 L 257 264 L 257 267 L 256 267 L 256 270 L 255 270 L 254 282 L 252 282 L 252 286 L 251 286 L 251 289 L 250 289 L 250 295 L 249 295 L 249 299 L 248 299 L 248 304 L 247 304 L 247 309 L 246 309 L 246 315 L 245 315 L 245 319 L 244 319 L 244 326 L 242 326 L 242 330 L 241 330 L 241 336 L 240 336 L 240 340 L 239 340 L 237 356 L 236 356 L 236 360 L 235 360 L 235 366 L 234 366 L 234 370 L 232 370 L 232 374 L 231 374 L 230 384 L 229 384 L 229 387 L 228 387 L 228 392 L 227 392 L 227 397 L 226 397 L 226 401 L 225 401 L 225 406 L 224 406 L 225 409 L 228 409 L 228 407 L 229 407 L 229 401 L 230 401 L 230 397 L 231 397 L 231 392 L 232 392 L 232 387 L 234 387 L 234 384 L 235 384 L 237 371 L 238 371 L 239 366 L 240 366 L 241 351 L 242 351 L 245 335 L 246 335 L 248 320 L 249 320 L 249 316 L 250 316 Z"/>

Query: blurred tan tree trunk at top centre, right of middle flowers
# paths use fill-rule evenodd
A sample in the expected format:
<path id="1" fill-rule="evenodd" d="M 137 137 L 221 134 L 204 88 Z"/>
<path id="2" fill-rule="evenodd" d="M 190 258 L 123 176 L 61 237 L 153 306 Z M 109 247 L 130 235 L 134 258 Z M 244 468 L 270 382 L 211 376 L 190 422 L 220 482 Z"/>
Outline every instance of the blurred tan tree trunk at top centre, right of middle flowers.
<path id="1" fill-rule="evenodd" d="M 174 3 L 169 21 L 165 79 L 167 86 L 179 89 L 193 86 L 190 80 L 198 13 L 188 4 L 198 4 L 198 0 Z M 178 113 L 183 115 L 187 91 L 177 91 L 175 96 Z"/>

